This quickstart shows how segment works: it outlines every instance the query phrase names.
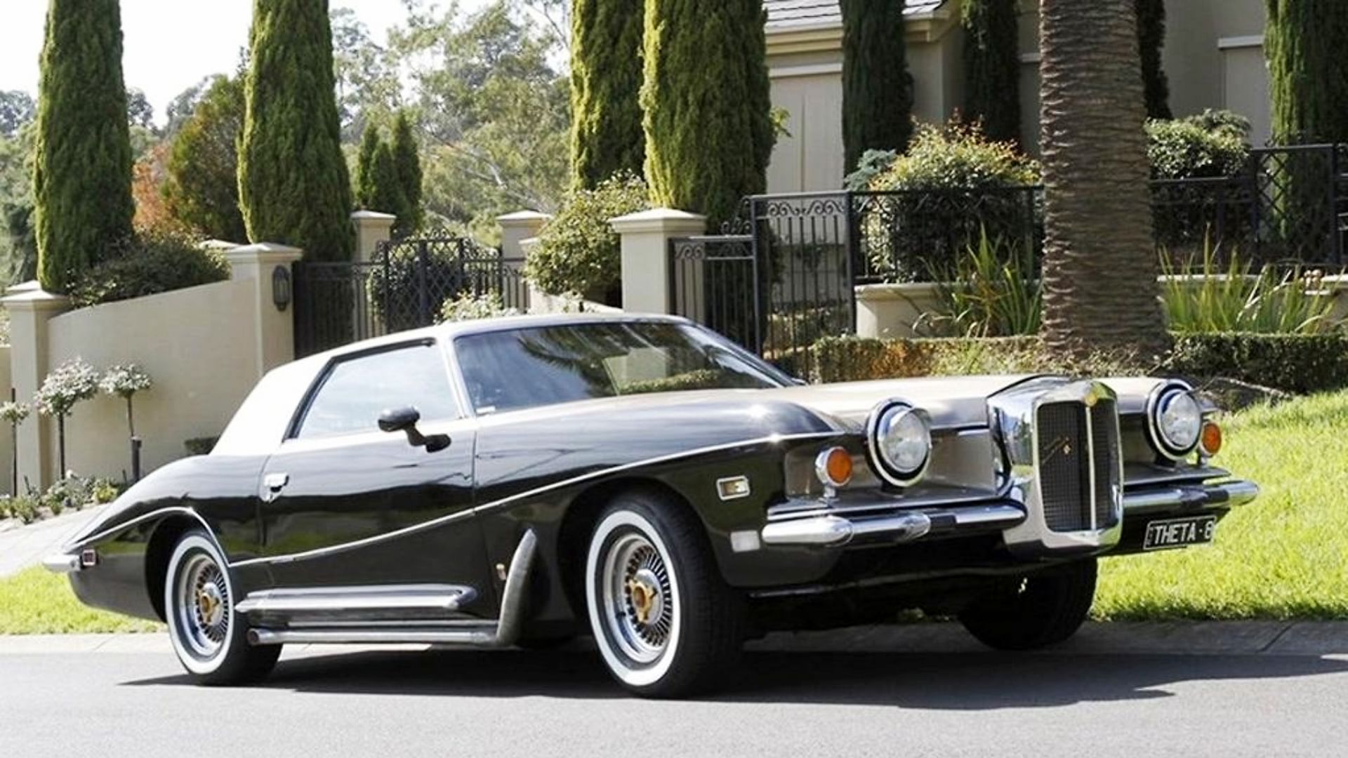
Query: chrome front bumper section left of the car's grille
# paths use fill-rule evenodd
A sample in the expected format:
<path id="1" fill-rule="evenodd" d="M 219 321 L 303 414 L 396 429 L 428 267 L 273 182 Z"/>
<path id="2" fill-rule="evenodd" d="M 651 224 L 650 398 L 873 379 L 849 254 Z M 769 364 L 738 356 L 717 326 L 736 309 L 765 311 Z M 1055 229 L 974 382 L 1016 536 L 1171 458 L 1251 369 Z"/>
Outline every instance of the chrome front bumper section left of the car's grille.
<path id="1" fill-rule="evenodd" d="M 953 531 L 961 534 L 1000 531 L 1023 522 L 1024 518 L 1023 507 L 1012 502 L 1000 502 L 950 508 L 914 508 L 868 518 L 829 514 L 785 519 L 764 526 L 762 535 L 766 545 L 840 548 L 860 541 L 903 545 Z"/>

